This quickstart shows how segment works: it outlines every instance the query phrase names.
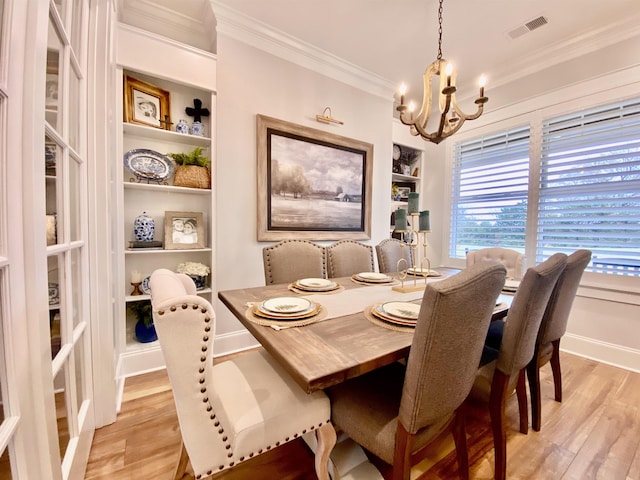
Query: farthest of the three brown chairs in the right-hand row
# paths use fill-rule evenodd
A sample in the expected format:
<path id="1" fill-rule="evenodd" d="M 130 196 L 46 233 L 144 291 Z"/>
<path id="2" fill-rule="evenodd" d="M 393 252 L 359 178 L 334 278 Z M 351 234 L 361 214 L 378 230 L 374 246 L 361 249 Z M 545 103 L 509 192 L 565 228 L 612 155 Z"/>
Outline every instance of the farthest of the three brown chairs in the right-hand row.
<path id="1" fill-rule="evenodd" d="M 560 339 L 567 331 L 567 321 L 580 279 L 591 261 L 591 251 L 577 250 L 567 258 L 567 266 L 558 278 L 547 309 L 542 317 L 533 359 L 527 366 L 531 394 L 531 426 L 540 431 L 542 401 L 540 398 L 540 368 L 551 362 L 555 399 L 562 402 L 562 373 L 560 370 Z"/>

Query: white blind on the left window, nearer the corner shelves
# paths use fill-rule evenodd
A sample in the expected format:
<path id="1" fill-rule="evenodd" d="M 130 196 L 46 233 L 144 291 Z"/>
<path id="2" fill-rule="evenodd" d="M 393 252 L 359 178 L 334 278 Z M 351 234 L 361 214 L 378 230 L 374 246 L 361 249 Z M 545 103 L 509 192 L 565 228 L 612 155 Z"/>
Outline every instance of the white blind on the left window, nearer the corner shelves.
<path id="1" fill-rule="evenodd" d="M 529 126 L 454 146 L 450 256 L 501 246 L 524 253 Z"/>

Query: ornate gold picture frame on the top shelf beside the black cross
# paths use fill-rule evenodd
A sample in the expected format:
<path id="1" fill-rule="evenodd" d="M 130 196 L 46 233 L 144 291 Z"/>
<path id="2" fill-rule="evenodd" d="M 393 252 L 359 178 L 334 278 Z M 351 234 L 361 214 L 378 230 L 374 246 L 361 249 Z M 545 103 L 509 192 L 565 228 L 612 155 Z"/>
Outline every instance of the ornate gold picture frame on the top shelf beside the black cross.
<path id="1" fill-rule="evenodd" d="M 130 75 L 124 77 L 124 121 L 148 127 L 171 126 L 170 93 Z"/>

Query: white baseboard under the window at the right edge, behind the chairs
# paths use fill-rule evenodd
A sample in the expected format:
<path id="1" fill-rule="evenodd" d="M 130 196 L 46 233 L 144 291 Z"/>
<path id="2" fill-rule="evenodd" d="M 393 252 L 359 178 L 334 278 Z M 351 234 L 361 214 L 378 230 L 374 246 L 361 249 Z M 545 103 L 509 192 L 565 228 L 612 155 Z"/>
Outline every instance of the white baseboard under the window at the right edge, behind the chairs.
<path id="1" fill-rule="evenodd" d="M 560 350 L 640 373 L 640 350 L 570 333 L 560 340 Z"/>

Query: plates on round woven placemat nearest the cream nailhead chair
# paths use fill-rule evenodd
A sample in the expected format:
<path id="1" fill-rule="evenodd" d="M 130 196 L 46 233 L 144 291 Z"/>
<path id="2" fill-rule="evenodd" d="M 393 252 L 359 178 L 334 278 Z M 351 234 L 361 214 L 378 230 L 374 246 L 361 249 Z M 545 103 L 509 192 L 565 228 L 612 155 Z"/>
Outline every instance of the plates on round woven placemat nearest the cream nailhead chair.
<path id="1" fill-rule="evenodd" d="M 246 317 L 253 323 L 274 327 L 300 327 L 321 320 L 326 309 L 302 297 L 275 297 L 249 305 Z"/>

